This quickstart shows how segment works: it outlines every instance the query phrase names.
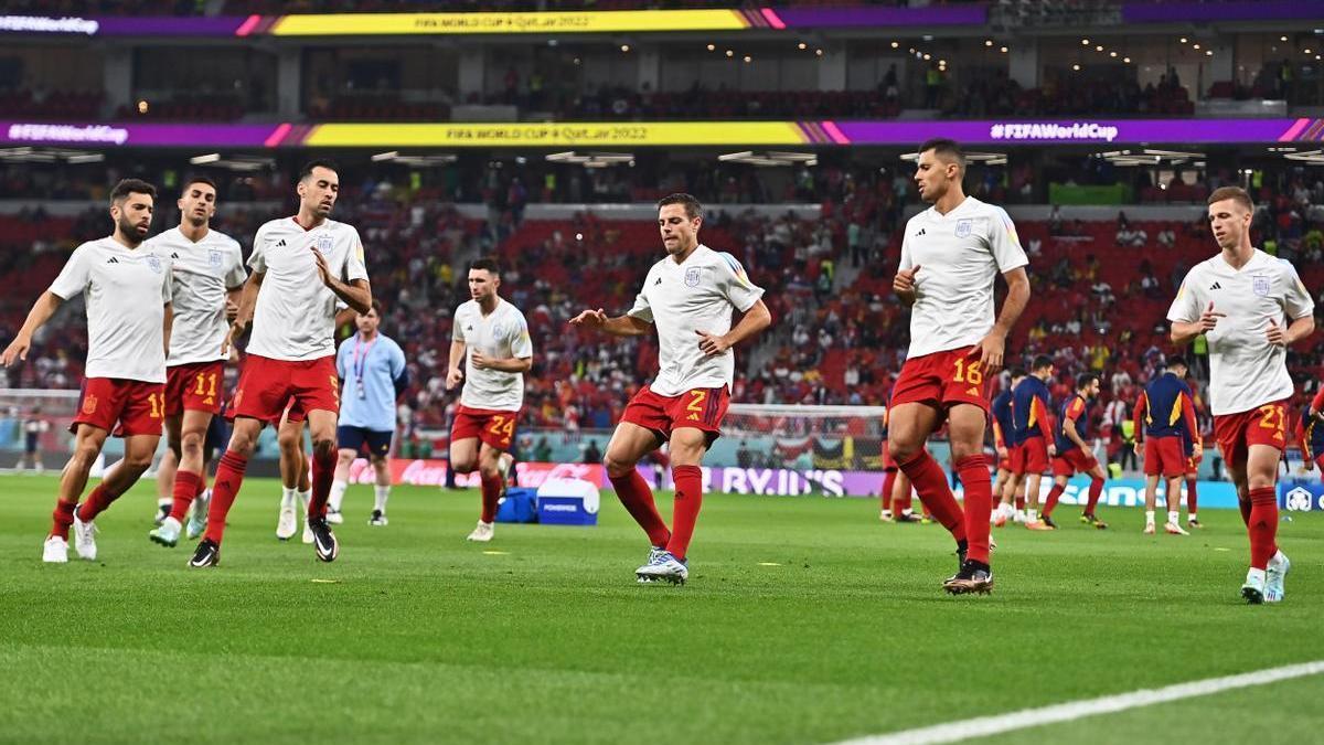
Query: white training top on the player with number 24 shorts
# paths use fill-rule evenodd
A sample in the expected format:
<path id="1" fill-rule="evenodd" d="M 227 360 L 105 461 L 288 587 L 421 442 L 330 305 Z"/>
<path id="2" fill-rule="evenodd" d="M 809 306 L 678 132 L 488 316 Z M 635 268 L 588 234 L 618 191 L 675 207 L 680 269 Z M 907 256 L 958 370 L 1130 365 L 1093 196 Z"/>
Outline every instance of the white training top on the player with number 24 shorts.
<path id="1" fill-rule="evenodd" d="M 474 350 L 491 359 L 534 357 L 528 322 L 518 308 L 498 297 L 496 308 L 483 315 L 477 301 L 462 302 L 455 309 L 450 338 L 465 345 L 465 387 L 459 394 L 461 404 L 491 411 L 519 411 L 524 406 L 523 372 L 479 370 L 473 362 Z"/>

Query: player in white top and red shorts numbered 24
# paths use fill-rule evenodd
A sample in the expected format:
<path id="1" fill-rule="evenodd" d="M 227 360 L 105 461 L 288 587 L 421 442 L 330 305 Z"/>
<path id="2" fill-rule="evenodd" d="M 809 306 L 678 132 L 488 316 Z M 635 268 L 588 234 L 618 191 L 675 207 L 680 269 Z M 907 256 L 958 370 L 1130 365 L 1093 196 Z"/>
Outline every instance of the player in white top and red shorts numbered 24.
<path id="1" fill-rule="evenodd" d="M 506 490 L 502 456 L 515 437 L 524 406 L 524 372 L 534 366 L 534 342 L 524 314 L 498 294 L 500 266 L 493 258 L 469 265 L 469 297 L 455 309 L 446 390 L 461 382 L 459 408 L 450 428 L 450 468 L 482 479 L 482 513 L 470 541 L 493 540 L 496 502 Z M 461 367 L 463 363 L 463 367 Z"/>

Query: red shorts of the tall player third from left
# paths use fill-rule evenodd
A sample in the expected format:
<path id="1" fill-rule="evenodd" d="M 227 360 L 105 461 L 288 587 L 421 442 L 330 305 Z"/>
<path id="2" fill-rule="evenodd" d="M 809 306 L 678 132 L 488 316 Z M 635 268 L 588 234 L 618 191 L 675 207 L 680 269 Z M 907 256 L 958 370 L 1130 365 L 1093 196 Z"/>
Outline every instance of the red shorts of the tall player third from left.
<path id="1" fill-rule="evenodd" d="M 335 357 L 285 361 L 248 355 L 244 372 L 234 386 L 234 400 L 225 410 L 230 419 L 248 416 L 269 424 L 281 423 L 281 415 L 294 400 L 302 412 L 314 410 L 340 411 L 340 378 L 335 374 Z"/>

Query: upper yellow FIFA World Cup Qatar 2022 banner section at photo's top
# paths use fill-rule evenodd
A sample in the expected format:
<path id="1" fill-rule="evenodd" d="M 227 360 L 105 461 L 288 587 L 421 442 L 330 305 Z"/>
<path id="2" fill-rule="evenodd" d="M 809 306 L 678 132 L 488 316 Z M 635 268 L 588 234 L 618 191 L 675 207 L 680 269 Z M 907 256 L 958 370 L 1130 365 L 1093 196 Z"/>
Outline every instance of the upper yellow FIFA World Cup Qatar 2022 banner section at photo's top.
<path id="1" fill-rule="evenodd" d="M 739 11 L 583 11 L 545 13 L 327 13 L 282 16 L 274 36 L 610 33 L 749 28 Z"/>

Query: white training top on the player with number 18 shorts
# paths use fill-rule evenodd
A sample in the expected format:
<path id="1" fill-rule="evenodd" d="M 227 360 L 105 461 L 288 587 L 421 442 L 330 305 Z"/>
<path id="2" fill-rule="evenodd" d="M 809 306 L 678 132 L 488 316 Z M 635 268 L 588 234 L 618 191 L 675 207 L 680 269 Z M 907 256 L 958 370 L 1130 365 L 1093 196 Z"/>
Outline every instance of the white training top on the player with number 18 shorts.
<path id="1" fill-rule="evenodd" d="M 907 357 L 974 346 L 993 330 L 993 281 L 1030 260 L 1001 207 L 967 196 L 906 223 L 899 269 L 919 266 Z"/>

